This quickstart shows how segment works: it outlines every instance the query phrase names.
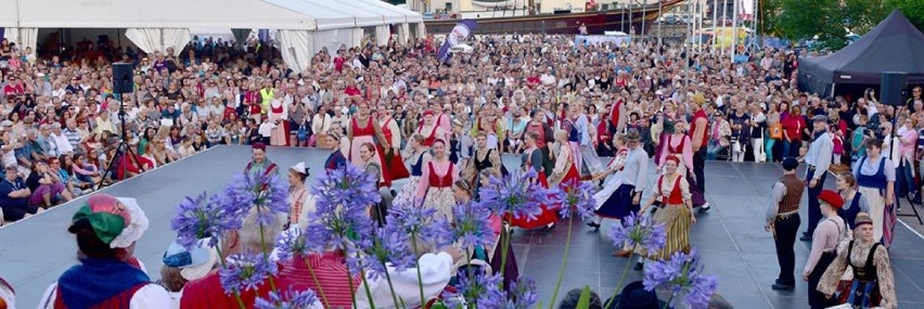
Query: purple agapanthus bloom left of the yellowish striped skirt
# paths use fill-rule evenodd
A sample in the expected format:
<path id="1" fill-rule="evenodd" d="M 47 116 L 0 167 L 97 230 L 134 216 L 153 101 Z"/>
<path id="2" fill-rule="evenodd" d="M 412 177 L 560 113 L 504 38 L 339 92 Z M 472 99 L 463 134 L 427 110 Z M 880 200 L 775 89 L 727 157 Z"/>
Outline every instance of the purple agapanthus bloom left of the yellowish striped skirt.
<path id="1" fill-rule="evenodd" d="M 607 236 L 618 247 L 628 244 L 629 247 L 644 248 L 649 254 L 660 250 L 667 242 L 664 224 L 649 217 L 639 218 L 636 214 L 623 218 L 621 223 L 613 223 Z"/>

